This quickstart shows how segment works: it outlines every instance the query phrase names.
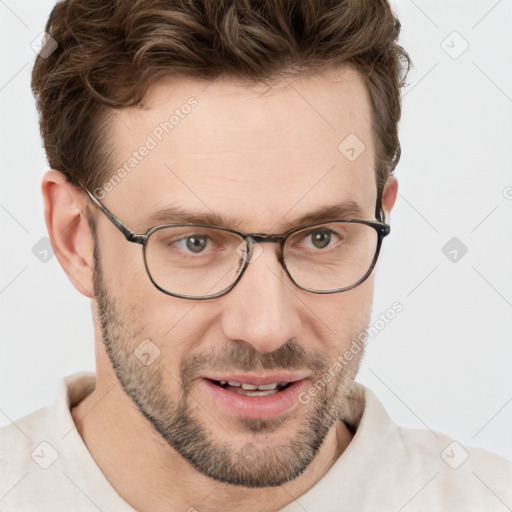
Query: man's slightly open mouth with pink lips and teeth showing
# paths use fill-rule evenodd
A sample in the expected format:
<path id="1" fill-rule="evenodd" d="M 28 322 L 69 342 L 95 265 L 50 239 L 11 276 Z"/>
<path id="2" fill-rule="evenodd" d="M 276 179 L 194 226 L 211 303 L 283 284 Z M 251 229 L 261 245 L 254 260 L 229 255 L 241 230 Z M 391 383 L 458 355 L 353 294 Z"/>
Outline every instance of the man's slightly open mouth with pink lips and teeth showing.
<path id="1" fill-rule="evenodd" d="M 290 414 L 300 403 L 309 373 L 280 372 L 272 375 L 205 375 L 198 381 L 213 403 L 241 418 L 275 418 Z"/>

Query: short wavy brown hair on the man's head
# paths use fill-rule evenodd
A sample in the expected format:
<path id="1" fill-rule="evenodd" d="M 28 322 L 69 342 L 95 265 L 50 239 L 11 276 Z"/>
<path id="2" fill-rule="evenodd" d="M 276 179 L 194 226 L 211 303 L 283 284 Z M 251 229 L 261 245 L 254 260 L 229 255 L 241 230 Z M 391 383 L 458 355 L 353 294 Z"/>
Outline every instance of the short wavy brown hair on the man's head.
<path id="1" fill-rule="evenodd" d="M 411 67 L 387 0 L 62 0 L 32 91 L 48 162 L 94 190 L 113 172 L 109 121 L 166 76 L 268 83 L 349 65 L 373 108 L 377 190 L 400 159 L 400 88 Z M 46 57 L 46 58 L 43 58 Z"/>

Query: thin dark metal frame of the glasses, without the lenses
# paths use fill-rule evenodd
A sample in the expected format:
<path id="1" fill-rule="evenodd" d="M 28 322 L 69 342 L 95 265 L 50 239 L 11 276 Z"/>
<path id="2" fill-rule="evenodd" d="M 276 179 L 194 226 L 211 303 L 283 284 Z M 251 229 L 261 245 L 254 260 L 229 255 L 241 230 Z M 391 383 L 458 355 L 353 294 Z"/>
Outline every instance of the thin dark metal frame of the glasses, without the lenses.
<path id="1" fill-rule="evenodd" d="M 377 259 L 379 257 L 380 249 L 381 249 L 381 246 L 382 246 L 382 241 L 391 232 L 391 227 L 389 226 L 389 224 L 386 224 L 386 223 L 381 222 L 379 220 L 335 219 L 335 220 L 331 220 L 331 221 L 315 222 L 313 224 L 307 224 L 305 226 L 298 226 L 296 228 L 288 230 L 286 233 L 283 233 L 282 235 L 280 235 L 280 234 L 272 234 L 272 233 L 244 233 L 242 231 L 238 231 L 236 229 L 231 229 L 231 228 L 227 228 L 227 227 L 223 227 L 223 226 L 213 226 L 213 225 L 209 225 L 209 224 L 192 224 L 192 223 L 158 224 L 157 226 L 153 226 L 153 227 L 149 228 L 145 233 L 136 234 L 130 228 L 128 228 L 118 217 L 116 217 L 86 187 L 84 187 L 83 185 L 80 185 L 80 186 L 87 192 L 88 196 L 91 198 L 93 203 L 96 206 L 98 206 L 98 208 L 100 208 L 100 210 L 110 219 L 112 224 L 114 224 L 114 226 L 117 229 L 119 229 L 119 231 L 121 231 L 121 233 L 124 235 L 124 237 L 126 238 L 126 240 L 128 242 L 132 242 L 134 244 L 142 245 L 142 253 L 143 253 L 143 259 L 144 259 L 144 266 L 146 268 L 146 273 L 148 274 L 149 279 L 151 280 L 153 285 L 158 290 L 160 290 L 161 292 L 165 293 L 166 295 L 171 295 L 172 297 L 178 297 L 178 298 L 181 298 L 181 299 L 190 299 L 190 300 L 215 299 L 215 298 L 218 298 L 218 297 L 222 297 L 223 295 L 226 295 L 228 292 L 230 292 L 237 285 L 237 283 L 240 281 L 240 279 L 242 278 L 245 270 L 249 266 L 249 263 L 251 262 L 252 251 L 253 251 L 253 247 L 254 247 L 255 243 L 278 243 L 279 244 L 279 250 L 278 250 L 278 253 L 277 253 L 277 260 L 279 261 L 279 263 L 283 267 L 284 271 L 286 272 L 286 275 L 290 278 L 292 283 L 295 286 L 297 286 L 298 288 L 300 288 L 301 290 L 304 290 L 304 291 L 307 291 L 307 292 L 310 292 L 310 293 L 319 294 L 319 295 L 321 295 L 321 294 L 330 294 L 330 293 L 341 293 L 341 292 L 344 292 L 344 291 L 348 291 L 348 290 L 351 290 L 352 288 L 355 288 L 356 286 L 359 286 L 362 282 L 364 282 L 364 281 L 366 281 L 366 279 L 368 279 L 368 277 L 373 272 L 373 269 L 375 268 L 375 265 L 377 263 Z M 376 212 L 378 212 L 378 214 L 376 216 L 380 217 L 379 214 L 380 214 L 381 211 L 382 210 L 380 209 L 380 204 L 379 204 L 379 201 L 378 201 L 377 208 L 376 208 Z M 301 286 L 291 276 L 290 272 L 288 271 L 288 268 L 286 267 L 286 263 L 284 261 L 284 252 L 283 252 L 284 251 L 284 246 L 286 244 L 286 241 L 288 240 L 288 238 L 290 236 L 292 236 L 293 234 L 297 233 L 298 231 L 301 231 L 303 229 L 312 228 L 312 227 L 315 227 L 315 226 L 323 226 L 324 224 L 330 224 L 332 222 L 364 224 L 366 226 L 370 226 L 373 229 L 375 229 L 375 231 L 377 232 L 377 237 L 378 238 L 377 238 L 377 246 L 376 246 L 376 249 L 375 249 L 375 254 L 373 256 L 373 260 L 372 260 L 368 270 L 364 274 L 364 276 L 361 277 L 358 281 L 356 281 L 354 284 L 352 284 L 350 286 L 345 286 L 343 288 L 336 288 L 336 289 L 330 289 L 330 290 L 315 290 L 315 289 L 307 288 L 305 286 Z M 222 290 L 222 291 L 220 291 L 218 293 L 215 293 L 213 295 L 206 295 L 206 296 L 203 296 L 203 295 L 197 295 L 197 296 L 196 295 L 183 295 L 183 294 L 180 294 L 180 293 L 170 292 L 169 290 L 166 290 L 165 288 L 162 288 L 153 279 L 153 276 L 151 275 L 151 272 L 150 272 L 150 270 L 148 268 L 147 258 L 146 258 L 146 247 L 147 247 L 147 243 L 148 243 L 149 237 L 153 233 L 155 233 L 156 231 L 159 231 L 160 229 L 163 229 L 163 228 L 168 228 L 168 227 L 184 227 L 184 226 L 191 226 L 191 227 L 198 227 L 198 228 L 215 228 L 215 229 L 220 229 L 222 231 L 227 231 L 229 233 L 233 233 L 235 235 L 238 235 L 243 241 L 245 241 L 246 246 L 247 246 L 247 254 L 246 254 L 246 256 L 244 258 L 242 258 L 244 260 L 243 267 L 242 267 L 240 273 L 238 274 L 237 278 L 235 279 L 235 281 L 233 281 L 233 283 L 230 286 L 228 286 L 228 288 L 225 288 L 224 290 Z"/>

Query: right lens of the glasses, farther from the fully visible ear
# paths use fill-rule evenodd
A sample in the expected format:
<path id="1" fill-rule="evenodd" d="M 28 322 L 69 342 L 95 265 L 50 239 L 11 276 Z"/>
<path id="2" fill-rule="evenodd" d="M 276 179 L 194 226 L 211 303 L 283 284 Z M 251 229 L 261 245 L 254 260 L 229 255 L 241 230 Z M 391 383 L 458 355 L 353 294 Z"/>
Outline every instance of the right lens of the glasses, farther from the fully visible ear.
<path id="1" fill-rule="evenodd" d="M 377 231 L 356 222 L 331 222 L 294 233 L 284 248 L 286 268 L 304 288 L 347 288 L 366 276 L 378 245 Z"/>

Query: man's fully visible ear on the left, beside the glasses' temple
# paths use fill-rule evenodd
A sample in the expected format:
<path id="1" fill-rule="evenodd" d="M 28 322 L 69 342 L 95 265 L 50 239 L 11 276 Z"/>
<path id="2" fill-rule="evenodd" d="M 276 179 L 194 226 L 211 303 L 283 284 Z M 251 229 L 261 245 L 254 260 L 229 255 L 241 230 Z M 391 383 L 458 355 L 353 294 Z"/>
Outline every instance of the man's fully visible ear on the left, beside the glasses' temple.
<path id="1" fill-rule="evenodd" d="M 41 191 L 55 256 L 75 288 L 92 298 L 94 240 L 87 222 L 86 194 L 53 169 L 43 176 Z"/>

